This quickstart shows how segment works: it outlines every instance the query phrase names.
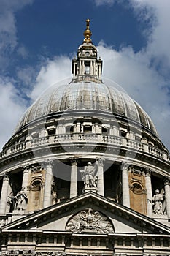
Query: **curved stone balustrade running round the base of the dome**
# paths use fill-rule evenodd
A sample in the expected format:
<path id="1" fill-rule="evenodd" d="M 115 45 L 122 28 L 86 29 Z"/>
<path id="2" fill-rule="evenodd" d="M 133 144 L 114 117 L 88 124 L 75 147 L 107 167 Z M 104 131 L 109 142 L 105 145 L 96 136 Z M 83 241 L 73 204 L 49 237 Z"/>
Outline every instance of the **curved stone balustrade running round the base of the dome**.
<path id="1" fill-rule="evenodd" d="M 12 154 L 18 154 L 22 151 L 36 148 L 39 146 L 62 144 L 62 143 L 103 143 L 104 146 L 122 146 L 135 151 L 143 151 L 152 156 L 169 161 L 169 154 L 155 148 L 154 146 L 141 143 L 136 140 L 130 140 L 128 138 L 118 137 L 114 135 L 102 135 L 93 133 L 74 133 L 63 135 L 49 135 L 42 138 L 34 138 L 32 140 L 26 140 L 25 142 L 18 143 L 15 146 L 7 148 L 0 154 L 0 159 L 4 159 Z"/>

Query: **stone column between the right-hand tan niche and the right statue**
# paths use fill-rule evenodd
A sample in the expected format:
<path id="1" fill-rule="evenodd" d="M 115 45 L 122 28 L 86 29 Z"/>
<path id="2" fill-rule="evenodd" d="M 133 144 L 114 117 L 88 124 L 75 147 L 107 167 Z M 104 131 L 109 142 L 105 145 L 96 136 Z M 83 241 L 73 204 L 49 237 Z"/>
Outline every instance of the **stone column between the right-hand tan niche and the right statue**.
<path id="1" fill-rule="evenodd" d="M 151 170 L 146 169 L 145 182 L 147 189 L 147 215 L 152 216 L 152 183 L 151 183 Z"/>

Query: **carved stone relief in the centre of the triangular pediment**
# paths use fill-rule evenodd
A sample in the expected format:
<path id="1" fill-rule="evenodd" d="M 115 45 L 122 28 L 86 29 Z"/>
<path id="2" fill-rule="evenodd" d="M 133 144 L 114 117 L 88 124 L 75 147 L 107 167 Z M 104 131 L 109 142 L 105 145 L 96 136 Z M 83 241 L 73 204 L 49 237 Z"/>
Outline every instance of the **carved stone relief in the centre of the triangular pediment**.
<path id="1" fill-rule="evenodd" d="M 74 214 L 66 225 L 67 231 L 73 233 L 113 233 L 115 232 L 112 222 L 99 211 L 87 208 Z"/>

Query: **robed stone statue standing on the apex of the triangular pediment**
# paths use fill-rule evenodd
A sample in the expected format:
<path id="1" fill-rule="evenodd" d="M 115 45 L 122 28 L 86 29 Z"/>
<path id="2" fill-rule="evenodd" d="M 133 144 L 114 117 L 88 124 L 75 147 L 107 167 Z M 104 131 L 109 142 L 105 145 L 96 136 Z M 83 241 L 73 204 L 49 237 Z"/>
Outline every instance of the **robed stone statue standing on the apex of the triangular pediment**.
<path id="1" fill-rule="evenodd" d="M 84 181 L 85 189 L 86 188 L 97 188 L 98 176 L 96 175 L 98 166 L 95 164 L 92 165 L 91 162 L 88 162 L 88 165 L 85 166 L 84 170 L 80 170 L 82 181 Z"/>

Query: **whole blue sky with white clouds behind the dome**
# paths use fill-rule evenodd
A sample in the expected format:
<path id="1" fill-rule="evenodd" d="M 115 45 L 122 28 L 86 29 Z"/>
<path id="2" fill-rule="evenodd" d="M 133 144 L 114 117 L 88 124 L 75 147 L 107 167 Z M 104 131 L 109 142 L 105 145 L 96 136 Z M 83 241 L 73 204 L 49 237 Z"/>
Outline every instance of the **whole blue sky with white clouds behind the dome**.
<path id="1" fill-rule="evenodd" d="M 0 147 L 39 94 L 71 75 L 87 18 L 104 77 L 139 102 L 170 149 L 169 0 L 0 0 Z"/>

